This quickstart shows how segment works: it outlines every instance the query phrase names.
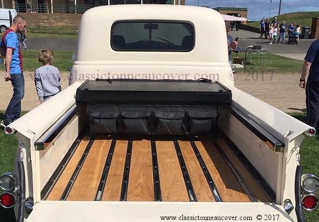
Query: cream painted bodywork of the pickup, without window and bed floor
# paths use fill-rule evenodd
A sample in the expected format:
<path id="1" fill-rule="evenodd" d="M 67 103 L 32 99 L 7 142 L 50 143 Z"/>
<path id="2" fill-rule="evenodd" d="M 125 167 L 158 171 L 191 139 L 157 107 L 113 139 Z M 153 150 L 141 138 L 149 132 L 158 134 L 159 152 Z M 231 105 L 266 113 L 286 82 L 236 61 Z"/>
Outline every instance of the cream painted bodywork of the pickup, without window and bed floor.
<path id="1" fill-rule="evenodd" d="M 112 49 L 110 39 L 114 23 L 145 20 L 192 24 L 195 31 L 193 49 L 189 52 L 121 52 Z M 25 221 L 151 222 L 160 221 L 161 216 L 176 216 L 177 219 L 183 219 L 184 216 L 233 216 L 237 220 L 239 217 L 251 217 L 251 221 L 259 221 L 258 215 L 261 215 L 262 220 L 266 220 L 266 215 L 278 215 L 279 219 L 275 216 L 275 220 L 297 221 L 295 211 L 288 215 L 283 205 L 286 199 L 290 199 L 295 206 L 295 147 L 300 146 L 304 133 L 310 127 L 234 87 L 227 52 L 225 23 L 222 16 L 211 9 L 177 5 L 115 5 L 96 7 L 85 12 L 80 23 L 70 86 L 10 125 L 16 131 L 20 144 L 17 160 L 23 153 L 26 197 L 34 200 L 33 211 L 25 213 Z M 46 133 L 56 130 L 55 124 L 75 109 L 76 90 L 86 79 L 116 79 L 125 75 L 133 79 L 163 79 L 163 76 L 164 79 L 183 80 L 206 78 L 223 83 L 231 89 L 234 109 L 244 112 L 244 116 L 251 117 L 263 129 L 270 129 L 268 132 L 284 143 L 284 147 L 277 147 L 276 144 L 262 140 L 231 111 L 221 108 L 219 129 L 260 173 L 267 183 L 266 187 L 275 194 L 274 199 L 268 202 L 182 202 L 93 199 L 60 201 L 43 198 L 41 192 L 86 127 L 85 111 L 78 110 L 44 150 L 37 149 L 35 142 Z M 17 169 L 15 174 L 18 175 Z"/>

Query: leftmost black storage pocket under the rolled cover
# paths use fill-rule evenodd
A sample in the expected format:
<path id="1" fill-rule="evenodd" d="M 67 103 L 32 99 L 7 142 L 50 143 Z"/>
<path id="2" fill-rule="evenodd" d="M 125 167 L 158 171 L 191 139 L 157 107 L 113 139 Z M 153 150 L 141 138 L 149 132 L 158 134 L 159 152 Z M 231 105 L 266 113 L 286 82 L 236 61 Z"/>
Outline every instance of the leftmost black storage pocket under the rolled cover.
<path id="1" fill-rule="evenodd" d="M 89 116 L 89 131 L 91 135 L 117 133 L 117 118 L 119 116 L 117 108 L 89 109 L 87 114 Z"/>

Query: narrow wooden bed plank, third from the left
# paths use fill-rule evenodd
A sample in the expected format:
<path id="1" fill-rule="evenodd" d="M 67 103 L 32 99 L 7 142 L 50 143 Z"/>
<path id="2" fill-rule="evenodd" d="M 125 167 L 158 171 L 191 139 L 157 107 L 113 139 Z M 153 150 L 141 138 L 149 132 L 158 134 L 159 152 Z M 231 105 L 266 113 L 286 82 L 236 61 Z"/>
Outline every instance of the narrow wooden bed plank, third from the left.
<path id="1" fill-rule="evenodd" d="M 118 201 L 121 193 L 123 170 L 127 151 L 127 140 L 116 140 L 116 146 L 102 201 Z"/>

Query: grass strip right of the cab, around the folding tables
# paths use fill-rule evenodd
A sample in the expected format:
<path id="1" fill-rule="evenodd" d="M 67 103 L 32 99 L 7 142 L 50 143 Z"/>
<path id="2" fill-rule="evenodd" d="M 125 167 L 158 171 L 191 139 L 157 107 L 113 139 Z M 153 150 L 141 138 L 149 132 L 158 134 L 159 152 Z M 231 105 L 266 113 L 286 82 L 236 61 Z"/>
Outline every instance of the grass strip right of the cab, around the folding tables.
<path id="1" fill-rule="evenodd" d="M 235 54 L 232 53 L 234 57 Z M 233 58 L 232 57 L 232 58 Z M 238 57 L 245 57 L 245 53 L 238 53 Z M 248 59 L 249 57 L 249 59 Z M 233 59 L 232 59 L 233 60 Z M 250 55 L 247 54 L 247 61 L 250 63 Z M 267 74 L 279 73 L 279 74 L 294 74 L 301 73 L 303 60 L 292 59 L 280 55 L 266 54 L 266 64 L 258 61 L 258 54 L 252 56 L 252 64 L 246 65 L 246 69 L 236 69 L 238 73 L 244 72 L 261 72 L 261 70 Z"/>

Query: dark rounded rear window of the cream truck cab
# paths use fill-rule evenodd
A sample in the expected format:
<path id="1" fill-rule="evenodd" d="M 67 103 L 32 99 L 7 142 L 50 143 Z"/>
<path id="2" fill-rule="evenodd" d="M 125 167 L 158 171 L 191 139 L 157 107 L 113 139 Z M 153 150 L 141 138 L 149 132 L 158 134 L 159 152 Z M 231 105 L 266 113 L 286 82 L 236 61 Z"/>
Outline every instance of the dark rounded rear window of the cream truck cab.
<path id="1" fill-rule="evenodd" d="M 189 52 L 194 28 L 187 22 L 121 21 L 111 28 L 115 51 Z"/>

